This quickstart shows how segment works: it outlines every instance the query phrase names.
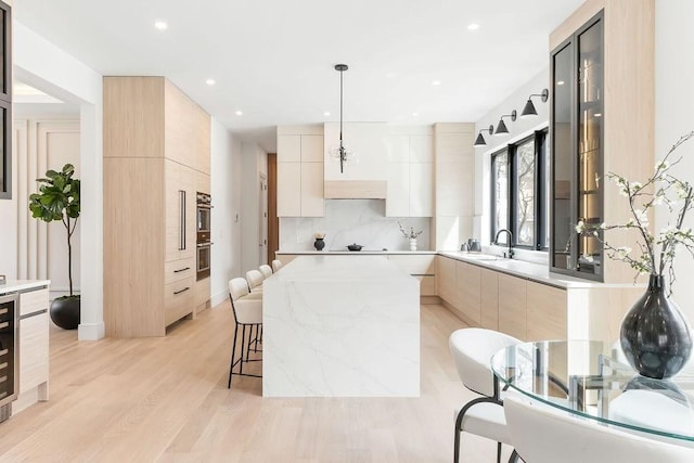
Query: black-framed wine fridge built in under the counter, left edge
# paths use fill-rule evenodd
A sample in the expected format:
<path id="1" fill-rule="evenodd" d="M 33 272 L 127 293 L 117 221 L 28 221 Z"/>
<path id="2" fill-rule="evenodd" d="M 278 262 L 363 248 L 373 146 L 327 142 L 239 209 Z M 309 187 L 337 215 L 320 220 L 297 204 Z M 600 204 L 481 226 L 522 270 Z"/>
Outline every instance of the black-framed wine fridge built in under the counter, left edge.
<path id="1" fill-rule="evenodd" d="M 0 422 L 9 417 L 20 388 L 17 310 L 16 294 L 0 296 Z"/>

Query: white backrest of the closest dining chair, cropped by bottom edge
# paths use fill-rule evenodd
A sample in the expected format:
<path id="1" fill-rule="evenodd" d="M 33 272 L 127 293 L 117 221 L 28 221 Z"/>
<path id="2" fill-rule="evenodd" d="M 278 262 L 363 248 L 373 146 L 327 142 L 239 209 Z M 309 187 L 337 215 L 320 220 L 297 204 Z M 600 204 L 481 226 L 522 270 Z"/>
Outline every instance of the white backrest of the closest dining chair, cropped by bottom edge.
<path id="1" fill-rule="evenodd" d="M 505 396 L 503 409 L 511 442 L 526 463 L 694 462 L 692 448 L 570 415 L 520 394 Z"/>

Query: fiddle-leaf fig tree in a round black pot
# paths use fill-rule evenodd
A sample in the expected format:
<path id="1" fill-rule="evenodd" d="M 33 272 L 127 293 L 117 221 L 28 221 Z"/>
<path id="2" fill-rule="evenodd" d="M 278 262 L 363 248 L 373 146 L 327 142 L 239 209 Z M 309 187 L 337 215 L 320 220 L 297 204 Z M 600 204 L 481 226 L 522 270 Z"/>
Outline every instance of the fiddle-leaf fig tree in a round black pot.
<path id="1" fill-rule="evenodd" d="M 59 172 L 48 170 L 46 178 L 37 179 L 39 192 L 29 195 L 29 210 L 34 218 L 52 222 L 60 220 L 67 232 L 67 278 L 69 295 L 51 303 L 51 320 L 64 330 L 79 325 L 79 295 L 73 293 L 72 237 L 79 218 L 79 179 L 73 178 L 75 166 L 66 164 Z"/>

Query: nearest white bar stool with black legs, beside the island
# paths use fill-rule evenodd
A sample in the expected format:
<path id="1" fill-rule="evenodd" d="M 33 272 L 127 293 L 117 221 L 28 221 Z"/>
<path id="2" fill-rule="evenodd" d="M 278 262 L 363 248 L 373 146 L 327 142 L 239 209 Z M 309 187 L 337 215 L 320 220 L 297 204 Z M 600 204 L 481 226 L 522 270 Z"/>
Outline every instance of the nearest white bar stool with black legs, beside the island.
<path id="1" fill-rule="evenodd" d="M 244 363 L 260 361 L 260 358 L 250 358 L 250 350 L 261 352 L 258 345 L 262 343 L 262 298 L 248 293 L 248 283 L 243 278 L 235 278 L 229 281 L 229 298 L 231 299 L 231 310 L 234 316 L 234 339 L 231 347 L 231 361 L 229 366 L 228 388 L 231 388 L 232 375 L 262 377 L 258 374 L 244 373 Z M 254 336 L 255 329 L 255 336 Z M 241 349 L 236 358 L 236 338 L 241 330 Z M 246 330 L 248 331 L 246 335 Z M 239 371 L 234 372 L 234 366 L 239 364 Z"/>

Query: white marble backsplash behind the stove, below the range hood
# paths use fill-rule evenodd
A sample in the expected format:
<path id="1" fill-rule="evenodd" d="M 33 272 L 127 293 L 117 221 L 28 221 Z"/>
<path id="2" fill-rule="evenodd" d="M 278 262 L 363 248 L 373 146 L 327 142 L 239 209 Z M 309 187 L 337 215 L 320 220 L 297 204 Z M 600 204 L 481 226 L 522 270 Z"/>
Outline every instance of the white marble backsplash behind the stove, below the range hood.
<path id="1" fill-rule="evenodd" d="M 325 233 L 324 250 L 345 250 L 352 243 L 364 250 L 410 250 L 402 228 L 422 230 L 417 250 L 430 250 L 428 217 L 385 217 L 384 200 L 325 200 L 325 217 L 280 218 L 280 250 L 314 250 L 313 234 Z"/>

